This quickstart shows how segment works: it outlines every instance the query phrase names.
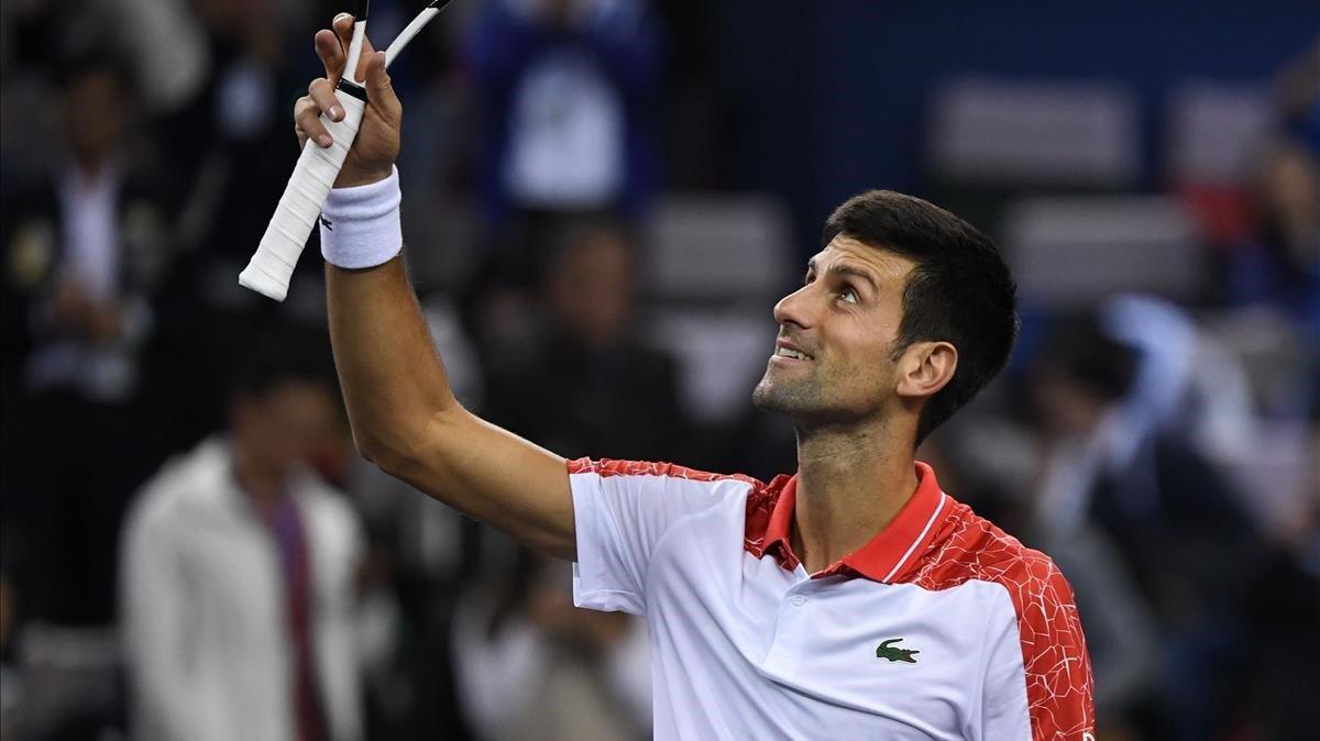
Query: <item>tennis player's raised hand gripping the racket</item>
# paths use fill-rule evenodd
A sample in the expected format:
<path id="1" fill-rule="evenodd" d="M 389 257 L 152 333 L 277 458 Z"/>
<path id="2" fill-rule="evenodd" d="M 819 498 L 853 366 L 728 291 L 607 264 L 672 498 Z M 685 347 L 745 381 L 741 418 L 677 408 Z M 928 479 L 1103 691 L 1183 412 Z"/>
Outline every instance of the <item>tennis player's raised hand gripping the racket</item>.
<path id="1" fill-rule="evenodd" d="M 294 132 L 302 145 L 310 137 L 317 146 L 331 145 L 330 132 L 321 123 L 325 112 L 331 120 L 343 119 L 343 108 L 335 98 L 334 88 L 343 75 L 347 62 L 348 42 L 352 38 L 352 16 L 335 16 L 334 30 L 317 32 L 317 57 L 325 63 L 326 76 L 317 78 L 308 87 L 308 95 L 293 105 Z M 358 65 L 358 79 L 367 83 L 367 109 L 362 116 L 358 138 L 348 150 L 343 169 L 335 179 L 335 187 L 350 187 L 374 183 L 389 177 L 399 157 L 399 125 L 403 121 L 403 105 L 389 84 L 385 73 L 384 51 L 375 51 L 371 42 L 363 40 L 362 59 Z"/>

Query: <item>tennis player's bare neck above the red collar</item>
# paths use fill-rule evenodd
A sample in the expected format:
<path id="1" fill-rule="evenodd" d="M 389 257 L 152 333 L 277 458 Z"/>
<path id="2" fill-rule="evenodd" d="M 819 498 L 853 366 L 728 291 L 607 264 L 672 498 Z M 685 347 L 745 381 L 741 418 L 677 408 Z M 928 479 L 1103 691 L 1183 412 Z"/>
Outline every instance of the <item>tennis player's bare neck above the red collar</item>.
<path id="1" fill-rule="evenodd" d="M 809 574 L 861 548 L 916 490 L 911 436 L 884 425 L 797 432 L 792 547 Z"/>

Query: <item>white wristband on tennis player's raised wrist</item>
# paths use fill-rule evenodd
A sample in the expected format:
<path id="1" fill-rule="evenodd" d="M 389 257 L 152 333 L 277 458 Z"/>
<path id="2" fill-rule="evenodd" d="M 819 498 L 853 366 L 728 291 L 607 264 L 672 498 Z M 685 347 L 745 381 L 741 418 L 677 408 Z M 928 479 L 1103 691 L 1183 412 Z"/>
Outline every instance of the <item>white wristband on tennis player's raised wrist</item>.
<path id="1" fill-rule="evenodd" d="M 364 186 L 337 187 L 321 208 L 321 256 L 339 268 L 375 268 L 404 247 L 399 167 Z"/>

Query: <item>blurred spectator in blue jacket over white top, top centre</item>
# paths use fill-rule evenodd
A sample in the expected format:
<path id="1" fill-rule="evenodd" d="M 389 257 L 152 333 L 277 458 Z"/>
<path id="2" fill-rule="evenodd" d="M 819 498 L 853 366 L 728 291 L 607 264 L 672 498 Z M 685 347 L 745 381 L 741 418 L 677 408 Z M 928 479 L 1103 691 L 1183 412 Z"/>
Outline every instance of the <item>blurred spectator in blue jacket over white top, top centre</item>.
<path id="1" fill-rule="evenodd" d="M 527 210 L 642 215 L 660 78 L 659 28 L 644 0 L 494 0 L 470 54 L 492 224 Z"/>

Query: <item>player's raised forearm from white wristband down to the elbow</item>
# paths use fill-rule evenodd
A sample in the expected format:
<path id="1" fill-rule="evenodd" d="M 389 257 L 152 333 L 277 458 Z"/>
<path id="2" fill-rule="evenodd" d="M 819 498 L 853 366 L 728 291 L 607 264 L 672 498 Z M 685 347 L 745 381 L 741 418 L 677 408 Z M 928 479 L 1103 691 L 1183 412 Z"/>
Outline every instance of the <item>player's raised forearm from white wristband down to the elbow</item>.
<path id="1" fill-rule="evenodd" d="M 358 450 L 381 468 L 407 460 L 428 423 L 457 411 L 403 257 L 363 270 L 326 264 L 335 368 Z"/>

